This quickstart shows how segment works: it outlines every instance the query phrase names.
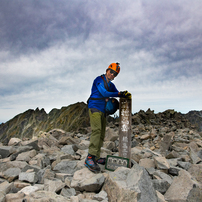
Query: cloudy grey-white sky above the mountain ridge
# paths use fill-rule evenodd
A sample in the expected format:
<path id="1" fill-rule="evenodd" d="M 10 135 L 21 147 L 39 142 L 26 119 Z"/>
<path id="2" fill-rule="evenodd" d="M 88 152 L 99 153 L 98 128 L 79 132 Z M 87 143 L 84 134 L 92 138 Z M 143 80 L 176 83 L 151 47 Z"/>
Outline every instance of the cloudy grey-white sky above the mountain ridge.
<path id="1" fill-rule="evenodd" d="M 201 0 L 1 0 L 0 123 L 86 102 L 112 62 L 132 111 L 202 110 Z"/>

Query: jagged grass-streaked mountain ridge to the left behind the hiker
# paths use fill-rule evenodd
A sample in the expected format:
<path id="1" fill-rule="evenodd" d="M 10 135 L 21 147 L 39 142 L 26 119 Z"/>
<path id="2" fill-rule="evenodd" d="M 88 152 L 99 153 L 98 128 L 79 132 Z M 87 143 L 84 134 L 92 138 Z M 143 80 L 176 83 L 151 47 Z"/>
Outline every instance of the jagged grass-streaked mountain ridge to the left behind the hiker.
<path id="1" fill-rule="evenodd" d="M 89 126 L 88 108 L 84 102 L 52 109 L 48 114 L 44 109 L 29 109 L 6 123 L 0 124 L 0 142 L 7 143 L 11 137 L 32 138 L 54 128 L 65 131 L 80 131 Z M 85 131 L 81 131 L 85 133 Z"/>

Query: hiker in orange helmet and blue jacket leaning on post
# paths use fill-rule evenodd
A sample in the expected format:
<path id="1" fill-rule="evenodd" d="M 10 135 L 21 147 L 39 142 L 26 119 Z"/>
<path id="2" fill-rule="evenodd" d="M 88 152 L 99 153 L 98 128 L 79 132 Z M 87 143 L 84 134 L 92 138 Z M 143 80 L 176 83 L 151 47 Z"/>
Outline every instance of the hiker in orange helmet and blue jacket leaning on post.
<path id="1" fill-rule="evenodd" d="M 119 72 L 119 63 L 110 64 L 106 69 L 106 74 L 98 76 L 94 80 L 91 95 L 87 101 L 92 133 L 84 165 L 94 173 L 100 172 L 98 164 L 104 165 L 106 161 L 105 158 L 100 158 L 106 129 L 106 101 L 110 97 L 131 98 L 131 94 L 128 91 L 118 91 L 111 82 Z"/>

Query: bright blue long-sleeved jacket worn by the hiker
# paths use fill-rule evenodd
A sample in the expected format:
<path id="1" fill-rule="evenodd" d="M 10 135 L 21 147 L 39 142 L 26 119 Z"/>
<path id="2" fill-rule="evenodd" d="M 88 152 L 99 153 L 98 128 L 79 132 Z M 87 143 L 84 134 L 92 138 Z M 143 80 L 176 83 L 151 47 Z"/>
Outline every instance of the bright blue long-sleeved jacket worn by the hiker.
<path id="1" fill-rule="evenodd" d="M 106 80 L 105 75 L 102 76 Z M 109 81 L 109 83 L 107 84 L 109 87 L 109 91 L 107 91 L 107 89 L 105 88 L 102 77 L 98 76 L 93 82 L 90 98 L 119 97 L 118 95 L 119 91 L 116 89 L 116 86 L 111 81 Z M 105 113 L 105 104 L 106 104 L 105 99 L 100 100 L 89 99 L 88 108 L 96 108 L 99 111 Z"/>

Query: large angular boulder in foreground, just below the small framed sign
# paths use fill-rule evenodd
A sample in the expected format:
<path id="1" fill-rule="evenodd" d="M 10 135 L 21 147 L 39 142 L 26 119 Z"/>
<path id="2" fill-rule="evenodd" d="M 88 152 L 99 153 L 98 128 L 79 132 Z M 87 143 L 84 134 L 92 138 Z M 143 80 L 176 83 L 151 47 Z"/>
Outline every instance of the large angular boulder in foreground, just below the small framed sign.
<path id="1" fill-rule="evenodd" d="M 157 195 L 146 170 L 139 165 L 119 167 L 107 175 L 103 190 L 111 202 L 156 202 Z"/>

